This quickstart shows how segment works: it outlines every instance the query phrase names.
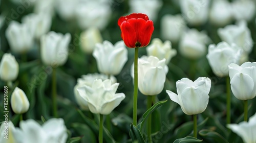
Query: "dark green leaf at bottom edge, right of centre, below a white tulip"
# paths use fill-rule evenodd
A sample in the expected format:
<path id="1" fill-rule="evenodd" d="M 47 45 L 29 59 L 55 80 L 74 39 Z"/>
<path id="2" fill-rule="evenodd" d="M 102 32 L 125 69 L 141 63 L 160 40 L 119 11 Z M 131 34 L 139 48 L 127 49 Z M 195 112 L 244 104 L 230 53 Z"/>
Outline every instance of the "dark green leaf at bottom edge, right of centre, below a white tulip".
<path id="1" fill-rule="evenodd" d="M 204 129 L 199 131 L 199 135 L 204 138 L 205 140 L 208 140 L 210 142 L 228 142 L 222 135 L 219 133 Z"/>

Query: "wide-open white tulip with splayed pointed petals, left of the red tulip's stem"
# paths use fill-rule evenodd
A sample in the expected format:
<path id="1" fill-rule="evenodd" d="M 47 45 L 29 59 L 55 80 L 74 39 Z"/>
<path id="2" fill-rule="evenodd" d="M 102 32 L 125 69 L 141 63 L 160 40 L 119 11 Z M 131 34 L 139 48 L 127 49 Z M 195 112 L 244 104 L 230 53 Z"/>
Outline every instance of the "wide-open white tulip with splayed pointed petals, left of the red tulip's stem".
<path id="1" fill-rule="evenodd" d="M 110 114 L 125 98 L 124 93 L 116 93 L 119 83 L 111 80 L 96 79 L 92 86 L 78 88 L 78 93 L 83 98 L 92 113 Z"/>

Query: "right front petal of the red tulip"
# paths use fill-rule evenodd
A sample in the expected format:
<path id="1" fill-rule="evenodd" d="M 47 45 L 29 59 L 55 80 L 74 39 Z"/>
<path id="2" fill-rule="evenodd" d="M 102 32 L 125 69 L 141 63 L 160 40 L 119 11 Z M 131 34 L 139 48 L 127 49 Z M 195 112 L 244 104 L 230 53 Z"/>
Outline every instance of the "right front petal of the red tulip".
<path id="1" fill-rule="evenodd" d="M 141 43 L 141 47 L 147 46 L 150 43 L 152 33 L 154 31 L 154 24 L 152 20 L 147 20 L 138 33 L 138 41 Z"/>

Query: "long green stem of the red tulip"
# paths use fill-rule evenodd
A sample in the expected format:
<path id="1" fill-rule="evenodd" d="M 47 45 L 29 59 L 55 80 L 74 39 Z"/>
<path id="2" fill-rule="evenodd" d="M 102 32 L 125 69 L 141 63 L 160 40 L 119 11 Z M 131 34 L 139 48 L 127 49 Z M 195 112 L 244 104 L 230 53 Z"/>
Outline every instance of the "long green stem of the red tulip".
<path id="1" fill-rule="evenodd" d="M 135 47 L 135 55 L 134 55 L 134 96 L 133 96 L 133 125 L 135 125 L 135 126 L 137 126 L 138 56 L 139 56 L 139 47 Z"/>

